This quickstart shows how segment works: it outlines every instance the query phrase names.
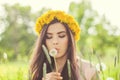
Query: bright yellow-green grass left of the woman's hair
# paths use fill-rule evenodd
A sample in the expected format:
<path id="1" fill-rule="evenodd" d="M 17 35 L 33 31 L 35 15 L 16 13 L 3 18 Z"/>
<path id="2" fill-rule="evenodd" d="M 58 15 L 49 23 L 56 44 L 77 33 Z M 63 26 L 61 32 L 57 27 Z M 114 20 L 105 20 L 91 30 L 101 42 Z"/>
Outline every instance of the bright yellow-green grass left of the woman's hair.
<path id="1" fill-rule="evenodd" d="M 0 80 L 28 80 L 28 63 L 9 62 L 0 64 Z"/>

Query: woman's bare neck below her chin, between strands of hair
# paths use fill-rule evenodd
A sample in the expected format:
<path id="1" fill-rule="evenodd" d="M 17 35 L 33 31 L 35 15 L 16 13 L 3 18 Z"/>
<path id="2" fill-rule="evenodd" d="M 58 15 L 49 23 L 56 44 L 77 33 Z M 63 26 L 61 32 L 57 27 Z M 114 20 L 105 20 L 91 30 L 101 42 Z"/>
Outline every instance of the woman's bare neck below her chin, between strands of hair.
<path id="1" fill-rule="evenodd" d="M 66 60 L 67 60 L 67 55 L 64 55 L 60 58 L 56 58 L 56 64 L 57 64 L 57 68 L 58 68 L 58 72 L 62 72 L 63 70 L 63 67 L 66 63 Z"/>

